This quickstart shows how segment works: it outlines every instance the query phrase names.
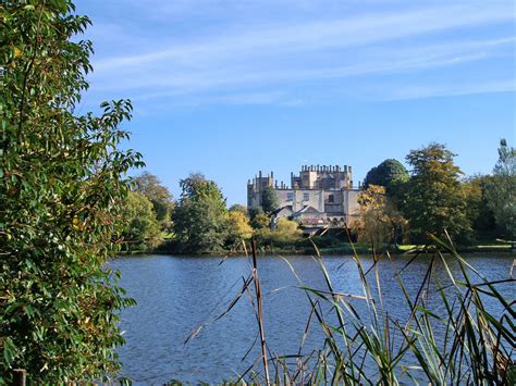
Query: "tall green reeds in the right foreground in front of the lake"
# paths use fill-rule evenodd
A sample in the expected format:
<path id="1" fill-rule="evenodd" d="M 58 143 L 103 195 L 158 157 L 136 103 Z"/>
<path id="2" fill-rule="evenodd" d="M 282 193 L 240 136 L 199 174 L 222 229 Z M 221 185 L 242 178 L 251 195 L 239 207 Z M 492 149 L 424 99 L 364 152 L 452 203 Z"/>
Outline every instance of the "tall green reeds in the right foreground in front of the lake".
<path id="1" fill-rule="evenodd" d="M 499 289 L 502 284 L 514 285 L 515 278 L 511 273 L 507 278 L 489 281 L 457 253 L 450 239 L 429 237 L 426 248 L 415 251 L 396 275 L 408 315 L 403 320 L 394 317 L 384 308 L 379 257 L 374 250 L 372 266 L 367 270 L 356 251 L 353 254 L 360 294 L 335 290 L 315 244 L 314 259 L 324 277 L 323 288 L 305 285 L 291 262 L 281 258 L 297 278 L 297 287 L 310 304 L 299 350 L 291 356 L 271 353 L 267 347 L 263 325 L 267 310 L 261 306 L 256 245 L 253 242 L 251 273 L 225 313 L 244 292 L 249 295 L 259 329 L 261 357 L 236 383 L 398 385 L 409 381 L 434 385 L 516 384 L 515 300 L 504 297 Z M 429 263 L 417 294 L 410 294 L 403 273 L 421 254 L 430 257 Z M 433 274 L 437 264 L 445 271 L 449 283 L 441 283 Z M 458 265 L 459 275 L 453 273 L 452 264 Z M 250 283 L 255 284 L 254 292 Z M 430 296 L 440 297 L 444 311 L 429 306 Z M 489 308 L 487 299 L 490 299 Z M 320 349 L 304 354 L 303 345 L 314 323 L 321 328 L 324 340 Z M 437 338 L 438 331 L 443 338 Z M 261 365 L 258 366 L 259 362 Z"/>

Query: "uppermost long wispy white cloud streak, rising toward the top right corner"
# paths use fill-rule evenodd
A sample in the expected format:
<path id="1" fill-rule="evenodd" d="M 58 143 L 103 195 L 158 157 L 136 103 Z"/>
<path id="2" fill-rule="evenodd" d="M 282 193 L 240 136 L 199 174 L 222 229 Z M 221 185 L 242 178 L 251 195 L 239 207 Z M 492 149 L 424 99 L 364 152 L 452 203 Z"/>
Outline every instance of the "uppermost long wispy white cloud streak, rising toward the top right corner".
<path id="1" fill-rule="evenodd" d="M 99 60 L 96 69 L 140 66 L 158 61 L 199 64 L 199 58 L 218 61 L 237 55 L 271 57 L 277 53 L 322 51 L 514 18 L 516 16 L 507 13 L 506 7 L 455 5 L 299 25 L 261 26 L 258 30 L 234 30 L 230 36 L 210 36 L 201 41 L 163 50 Z"/>

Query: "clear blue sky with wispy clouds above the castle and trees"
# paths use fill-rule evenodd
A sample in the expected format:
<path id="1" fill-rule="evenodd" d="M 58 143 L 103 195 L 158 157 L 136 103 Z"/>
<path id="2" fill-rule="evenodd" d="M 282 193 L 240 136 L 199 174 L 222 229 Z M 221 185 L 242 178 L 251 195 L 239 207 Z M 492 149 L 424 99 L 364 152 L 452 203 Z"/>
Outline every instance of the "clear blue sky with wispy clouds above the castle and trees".
<path id="1" fill-rule="evenodd" d="M 87 0 L 82 111 L 130 98 L 131 148 L 175 197 L 202 172 L 245 203 L 258 170 L 354 179 L 439 141 L 467 174 L 515 144 L 514 1 Z"/>

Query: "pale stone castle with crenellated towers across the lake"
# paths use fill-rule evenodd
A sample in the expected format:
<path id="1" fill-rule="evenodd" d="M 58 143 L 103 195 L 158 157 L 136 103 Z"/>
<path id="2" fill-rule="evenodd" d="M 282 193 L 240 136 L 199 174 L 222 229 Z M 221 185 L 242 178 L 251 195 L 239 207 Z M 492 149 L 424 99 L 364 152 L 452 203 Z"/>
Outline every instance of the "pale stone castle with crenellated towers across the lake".
<path id="1" fill-rule="evenodd" d="M 291 185 L 274 179 L 271 172 L 261 171 L 247 183 L 247 209 L 261 206 L 262 192 L 272 188 L 279 201 L 275 219 L 298 221 L 307 227 L 344 226 L 358 216 L 357 196 L 353 186 L 352 166 L 303 166 L 298 175 L 291 173 Z"/>

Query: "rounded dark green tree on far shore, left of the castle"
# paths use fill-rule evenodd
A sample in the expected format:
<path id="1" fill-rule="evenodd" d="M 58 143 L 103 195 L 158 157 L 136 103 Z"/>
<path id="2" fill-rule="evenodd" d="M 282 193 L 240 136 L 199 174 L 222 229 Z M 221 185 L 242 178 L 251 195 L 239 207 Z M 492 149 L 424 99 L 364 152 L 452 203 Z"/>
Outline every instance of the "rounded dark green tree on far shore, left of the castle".
<path id="1" fill-rule="evenodd" d="M 184 252 L 222 250 L 226 239 L 228 210 L 217 184 L 201 174 L 180 182 L 181 199 L 173 213 L 174 237 Z"/>

